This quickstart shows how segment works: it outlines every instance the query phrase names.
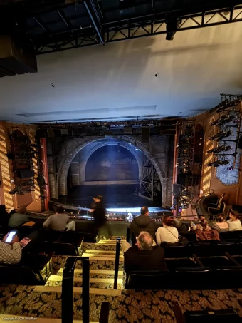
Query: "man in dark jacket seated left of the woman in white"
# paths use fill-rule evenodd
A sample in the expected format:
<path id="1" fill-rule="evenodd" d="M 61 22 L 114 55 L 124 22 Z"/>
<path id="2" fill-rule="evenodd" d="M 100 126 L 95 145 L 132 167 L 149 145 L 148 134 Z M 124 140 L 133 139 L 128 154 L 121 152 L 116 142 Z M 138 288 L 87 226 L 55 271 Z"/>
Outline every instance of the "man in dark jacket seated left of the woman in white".
<path id="1" fill-rule="evenodd" d="M 132 220 L 130 225 L 130 234 L 135 235 L 137 237 L 140 235 L 140 232 L 145 231 L 149 232 L 152 235 L 153 239 L 155 239 L 155 232 L 157 227 L 155 222 L 149 217 L 149 208 L 147 206 L 143 206 L 140 209 L 140 215 L 135 217 Z"/>

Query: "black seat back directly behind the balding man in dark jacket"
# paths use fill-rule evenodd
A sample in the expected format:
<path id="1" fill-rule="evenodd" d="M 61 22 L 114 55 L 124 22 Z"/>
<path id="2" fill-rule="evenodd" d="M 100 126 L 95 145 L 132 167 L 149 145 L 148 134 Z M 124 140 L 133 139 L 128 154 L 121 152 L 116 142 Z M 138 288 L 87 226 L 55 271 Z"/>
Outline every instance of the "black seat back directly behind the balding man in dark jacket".
<path id="1" fill-rule="evenodd" d="M 163 289 L 171 273 L 169 270 L 149 270 L 130 272 L 126 280 L 126 289 Z"/>

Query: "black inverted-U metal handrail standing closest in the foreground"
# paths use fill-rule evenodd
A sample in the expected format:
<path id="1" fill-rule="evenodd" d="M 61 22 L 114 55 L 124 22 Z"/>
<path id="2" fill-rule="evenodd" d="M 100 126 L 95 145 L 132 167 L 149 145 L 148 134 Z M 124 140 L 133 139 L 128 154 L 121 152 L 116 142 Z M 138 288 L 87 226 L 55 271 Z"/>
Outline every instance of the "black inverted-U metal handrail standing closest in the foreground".
<path id="1" fill-rule="evenodd" d="M 75 263 L 83 262 L 83 323 L 89 323 L 89 257 L 68 257 L 62 280 L 61 311 L 62 323 L 73 323 L 73 277 Z"/>

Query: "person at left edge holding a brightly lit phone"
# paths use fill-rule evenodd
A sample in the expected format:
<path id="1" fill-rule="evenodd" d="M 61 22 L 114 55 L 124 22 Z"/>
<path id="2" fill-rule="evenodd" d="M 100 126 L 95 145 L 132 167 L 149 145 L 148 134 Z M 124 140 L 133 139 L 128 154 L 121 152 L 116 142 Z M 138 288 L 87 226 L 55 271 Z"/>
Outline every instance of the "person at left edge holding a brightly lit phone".
<path id="1" fill-rule="evenodd" d="M 0 242 L 0 262 L 18 264 L 22 257 L 21 245 L 16 231 L 10 231 Z"/>

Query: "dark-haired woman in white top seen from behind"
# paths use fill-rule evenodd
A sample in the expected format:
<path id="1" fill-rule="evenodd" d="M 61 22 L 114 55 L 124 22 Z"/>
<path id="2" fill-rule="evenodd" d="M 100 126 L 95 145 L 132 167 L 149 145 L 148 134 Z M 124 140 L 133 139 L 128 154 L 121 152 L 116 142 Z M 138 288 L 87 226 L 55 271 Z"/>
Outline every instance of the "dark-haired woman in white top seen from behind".
<path id="1" fill-rule="evenodd" d="M 169 215 L 163 217 L 163 227 L 159 227 L 155 233 L 157 239 L 157 245 L 162 242 L 175 243 L 178 242 L 178 230 L 173 227 L 174 220 Z"/>

